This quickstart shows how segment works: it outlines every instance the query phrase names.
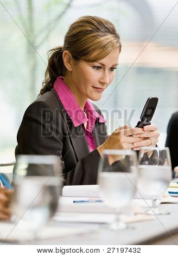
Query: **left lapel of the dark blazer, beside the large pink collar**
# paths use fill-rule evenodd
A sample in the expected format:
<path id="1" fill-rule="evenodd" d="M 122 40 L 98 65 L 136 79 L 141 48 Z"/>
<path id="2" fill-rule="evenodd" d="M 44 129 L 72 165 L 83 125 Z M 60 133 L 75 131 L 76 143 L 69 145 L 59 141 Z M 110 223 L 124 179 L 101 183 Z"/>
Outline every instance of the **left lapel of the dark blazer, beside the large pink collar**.
<path id="1" fill-rule="evenodd" d="M 69 137 L 71 138 L 71 142 L 73 144 L 75 154 L 77 155 L 77 158 L 79 161 L 82 157 L 85 157 L 87 154 L 90 153 L 90 150 L 88 148 L 88 143 L 86 141 L 84 129 L 82 125 L 79 125 L 77 127 L 73 125 L 73 122 L 71 118 L 69 118 L 65 108 L 63 107 L 58 97 L 58 94 L 55 92 L 54 89 L 52 89 L 52 92 L 55 94 L 55 96 L 59 101 L 59 104 L 61 107 L 61 114 L 62 114 L 63 120 L 65 121 L 67 130 L 69 133 Z"/>

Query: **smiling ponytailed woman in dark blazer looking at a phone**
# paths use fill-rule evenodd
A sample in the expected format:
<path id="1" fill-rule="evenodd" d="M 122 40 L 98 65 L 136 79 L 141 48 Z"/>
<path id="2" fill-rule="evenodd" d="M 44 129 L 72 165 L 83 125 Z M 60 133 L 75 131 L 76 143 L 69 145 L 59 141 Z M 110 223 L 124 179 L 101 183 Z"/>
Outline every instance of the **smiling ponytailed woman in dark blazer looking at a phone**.
<path id="1" fill-rule="evenodd" d="M 96 16 L 75 21 L 63 47 L 50 52 L 40 97 L 24 114 L 15 154 L 59 155 L 66 185 L 86 185 L 96 184 L 104 149 L 155 146 L 156 125 L 123 126 L 108 137 L 100 109 L 90 102 L 98 101 L 115 77 L 120 51 L 110 21 Z"/>

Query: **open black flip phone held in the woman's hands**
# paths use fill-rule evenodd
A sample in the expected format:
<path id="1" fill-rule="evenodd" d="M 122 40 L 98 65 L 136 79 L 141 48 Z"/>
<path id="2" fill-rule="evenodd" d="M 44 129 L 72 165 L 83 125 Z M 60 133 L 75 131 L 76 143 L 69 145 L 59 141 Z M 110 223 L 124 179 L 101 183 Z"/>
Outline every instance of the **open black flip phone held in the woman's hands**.
<path id="1" fill-rule="evenodd" d="M 135 127 L 143 128 L 146 125 L 150 125 L 150 121 L 155 113 L 158 97 L 149 97 L 141 114 L 141 120 L 138 121 Z"/>

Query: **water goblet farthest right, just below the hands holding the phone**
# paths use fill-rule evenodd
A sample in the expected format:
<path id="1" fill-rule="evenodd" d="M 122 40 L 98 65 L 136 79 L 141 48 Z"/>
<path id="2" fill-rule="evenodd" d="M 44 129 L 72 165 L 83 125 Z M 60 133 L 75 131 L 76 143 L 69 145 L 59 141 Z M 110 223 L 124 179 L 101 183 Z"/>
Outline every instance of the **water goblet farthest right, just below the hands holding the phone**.
<path id="1" fill-rule="evenodd" d="M 143 193 L 143 198 L 152 199 L 151 209 L 147 213 L 169 214 L 161 212 L 156 204 L 156 199 L 161 198 L 172 177 L 169 148 L 142 147 L 138 164 L 138 191 Z"/>

